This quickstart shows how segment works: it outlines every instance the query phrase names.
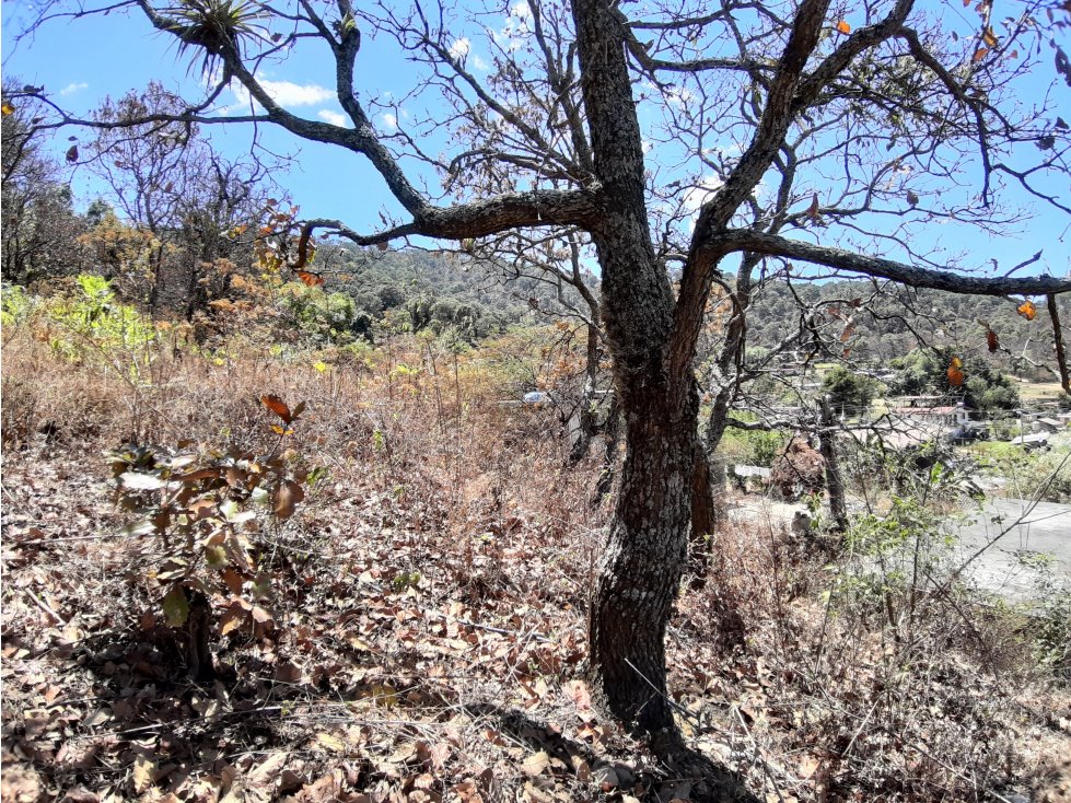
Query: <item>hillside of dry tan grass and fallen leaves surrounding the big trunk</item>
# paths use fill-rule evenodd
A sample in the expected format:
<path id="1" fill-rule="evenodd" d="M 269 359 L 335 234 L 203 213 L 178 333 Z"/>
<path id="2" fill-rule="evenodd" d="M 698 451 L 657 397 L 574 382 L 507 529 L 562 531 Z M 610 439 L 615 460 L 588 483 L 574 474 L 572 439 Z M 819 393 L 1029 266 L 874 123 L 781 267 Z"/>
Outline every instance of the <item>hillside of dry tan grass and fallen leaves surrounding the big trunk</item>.
<path id="1" fill-rule="evenodd" d="M 9 340 L 5 800 L 698 796 L 579 682 L 598 466 L 563 470 L 555 417 L 500 404 L 515 395 L 493 354 L 455 374 L 426 346 L 326 371 L 237 346 L 222 364 L 167 353 L 130 382 Z M 263 534 L 280 627 L 220 639 L 221 682 L 198 687 L 155 613 L 156 546 L 118 533 L 100 455 L 255 446 L 264 393 L 309 401 L 291 445 L 329 477 Z M 761 801 L 1057 788 L 1043 778 L 1071 746 L 1071 698 L 1021 620 L 959 592 L 890 620 L 858 568 L 835 577 L 814 552 L 768 522 L 715 534 L 713 579 L 682 596 L 668 639 L 691 744 Z"/>

